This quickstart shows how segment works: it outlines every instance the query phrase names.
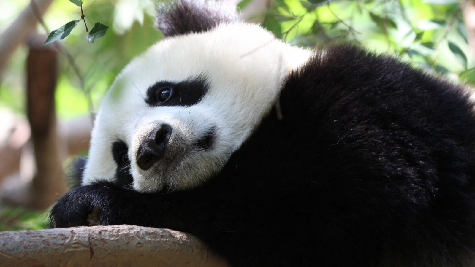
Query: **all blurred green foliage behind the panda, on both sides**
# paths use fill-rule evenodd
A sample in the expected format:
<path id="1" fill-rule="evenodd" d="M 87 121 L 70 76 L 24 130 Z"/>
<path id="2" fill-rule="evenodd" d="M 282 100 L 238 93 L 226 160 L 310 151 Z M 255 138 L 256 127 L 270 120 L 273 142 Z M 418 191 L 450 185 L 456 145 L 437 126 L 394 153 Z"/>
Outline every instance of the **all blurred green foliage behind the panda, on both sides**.
<path id="1" fill-rule="evenodd" d="M 243 0 L 238 7 L 245 10 L 252 1 Z M 28 3 L 0 1 L 0 31 Z M 70 62 L 59 57 L 56 107 L 61 119 L 88 114 L 86 94 L 97 109 L 125 64 L 162 38 L 153 27 L 152 0 L 91 0 L 83 7 L 88 24 L 101 21 L 110 29 L 94 44 L 85 39 L 85 30 L 77 29 L 61 41 L 85 80 L 82 88 Z M 274 0 L 267 10 L 256 10 L 253 19 L 296 46 L 312 48 L 321 42 L 356 41 L 430 71 L 475 82 L 475 62 L 467 44 L 462 10 L 463 3 L 458 0 Z M 62 0 L 53 2 L 44 20 L 49 28 L 57 29 L 80 16 L 75 5 Z M 38 32 L 47 35 L 49 31 L 38 26 Z M 27 52 L 26 47 L 17 49 L 0 81 L 0 107 L 8 106 L 20 114 L 25 113 Z M 46 215 L 4 208 L 0 210 L 0 230 L 43 228 Z"/>

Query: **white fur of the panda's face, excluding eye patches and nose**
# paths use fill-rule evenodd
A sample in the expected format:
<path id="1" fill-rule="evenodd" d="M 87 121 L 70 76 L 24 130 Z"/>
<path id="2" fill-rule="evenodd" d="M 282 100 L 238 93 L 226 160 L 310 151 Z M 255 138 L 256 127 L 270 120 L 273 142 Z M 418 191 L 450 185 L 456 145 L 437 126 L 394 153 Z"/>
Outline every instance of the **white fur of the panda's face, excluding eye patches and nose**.
<path id="1" fill-rule="evenodd" d="M 129 147 L 133 188 L 159 191 L 198 186 L 216 174 L 252 133 L 278 98 L 285 76 L 308 60 L 310 51 L 292 48 L 257 25 L 233 23 L 209 32 L 166 38 L 123 69 L 105 95 L 92 132 L 83 184 L 112 181 L 117 165 L 111 146 Z M 207 94 L 192 106 L 151 107 L 146 90 L 158 81 L 203 76 Z M 165 157 L 143 171 L 135 155 L 158 124 L 173 128 Z M 193 143 L 215 126 L 213 145 Z"/>

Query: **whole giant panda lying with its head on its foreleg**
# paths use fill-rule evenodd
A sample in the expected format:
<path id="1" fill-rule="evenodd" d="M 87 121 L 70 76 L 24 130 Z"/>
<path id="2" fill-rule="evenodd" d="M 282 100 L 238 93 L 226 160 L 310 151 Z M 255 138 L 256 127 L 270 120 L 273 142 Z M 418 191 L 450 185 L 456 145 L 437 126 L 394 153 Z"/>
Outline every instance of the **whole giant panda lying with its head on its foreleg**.
<path id="1" fill-rule="evenodd" d="M 236 267 L 475 266 L 463 86 L 350 43 L 291 47 L 211 0 L 158 10 L 165 38 L 104 96 L 55 227 L 186 231 Z"/>

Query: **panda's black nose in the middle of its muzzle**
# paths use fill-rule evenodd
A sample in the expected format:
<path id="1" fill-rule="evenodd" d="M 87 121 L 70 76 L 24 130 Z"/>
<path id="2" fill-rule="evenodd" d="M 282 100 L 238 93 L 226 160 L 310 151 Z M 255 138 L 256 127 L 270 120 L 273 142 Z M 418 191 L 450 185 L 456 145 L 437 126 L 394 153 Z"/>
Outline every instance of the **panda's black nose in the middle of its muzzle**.
<path id="1" fill-rule="evenodd" d="M 137 152 L 137 165 L 142 170 L 148 170 L 158 162 L 165 153 L 171 135 L 171 126 L 162 124 L 147 134 Z"/>

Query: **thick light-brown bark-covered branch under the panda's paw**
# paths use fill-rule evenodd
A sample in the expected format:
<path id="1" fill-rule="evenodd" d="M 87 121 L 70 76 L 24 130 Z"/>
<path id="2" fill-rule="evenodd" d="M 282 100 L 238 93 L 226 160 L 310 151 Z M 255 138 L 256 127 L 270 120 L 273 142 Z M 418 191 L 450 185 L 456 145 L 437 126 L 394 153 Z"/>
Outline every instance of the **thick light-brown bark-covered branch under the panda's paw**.
<path id="1" fill-rule="evenodd" d="M 0 232 L 1 266 L 225 267 L 195 236 L 131 225 Z"/>

